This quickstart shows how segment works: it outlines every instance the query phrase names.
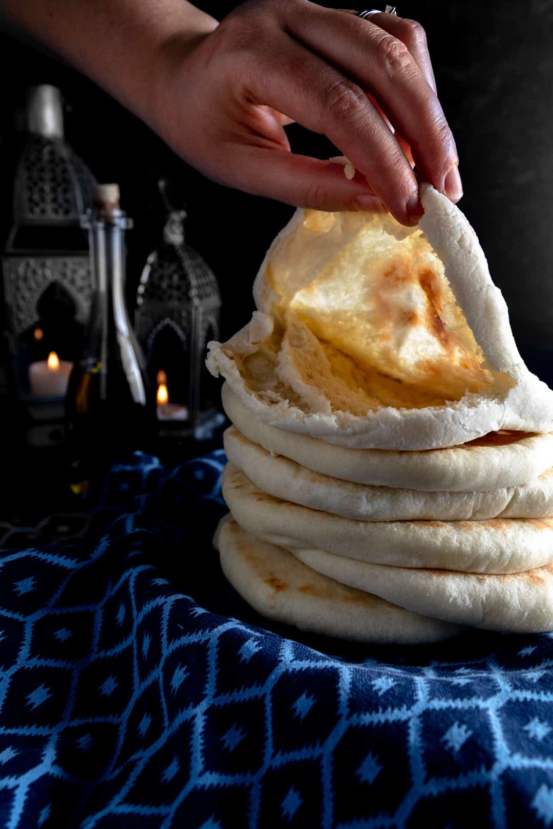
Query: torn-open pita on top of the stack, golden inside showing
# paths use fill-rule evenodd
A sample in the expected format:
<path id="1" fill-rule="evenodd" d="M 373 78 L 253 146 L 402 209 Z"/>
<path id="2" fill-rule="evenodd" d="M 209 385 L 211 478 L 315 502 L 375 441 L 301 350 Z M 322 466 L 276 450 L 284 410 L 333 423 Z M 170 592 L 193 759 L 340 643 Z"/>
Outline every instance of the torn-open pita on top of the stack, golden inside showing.
<path id="1" fill-rule="evenodd" d="M 352 448 L 419 450 L 553 431 L 507 306 L 458 207 L 421 190 L 389 214 L 298 210 L 255 280 L 258 310 L 207 365 L 255 417 Z"/>

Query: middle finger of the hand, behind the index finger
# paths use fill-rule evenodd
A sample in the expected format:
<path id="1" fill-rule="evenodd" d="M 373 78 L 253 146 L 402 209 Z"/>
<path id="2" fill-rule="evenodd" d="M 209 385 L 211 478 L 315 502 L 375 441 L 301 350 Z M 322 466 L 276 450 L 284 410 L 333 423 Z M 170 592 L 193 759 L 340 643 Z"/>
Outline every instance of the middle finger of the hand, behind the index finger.
<path id="1" fill-rule="evenodd" d="M 285 23 L 293 38 L 370 91 L 410 145 L 424 178 L 457 201 L 462 191 L 454 138 L 432 85 L 405 43 L 371 22 L 372 18 L 362 20 L 311 3 L 293 3 L 290 10 Z M 421 61 L 422 54 L 419 44 Z"/>

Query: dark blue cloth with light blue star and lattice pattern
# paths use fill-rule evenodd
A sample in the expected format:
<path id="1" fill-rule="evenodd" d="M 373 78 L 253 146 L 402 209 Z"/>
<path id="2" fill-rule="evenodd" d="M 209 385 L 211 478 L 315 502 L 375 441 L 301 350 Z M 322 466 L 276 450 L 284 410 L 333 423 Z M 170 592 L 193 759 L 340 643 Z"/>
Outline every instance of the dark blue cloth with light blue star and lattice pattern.
<path id="1" fill-rule="evenodd" d="M 224 461 L 136 455 L 90 537 L 2 552 L 0 826 L 551 827 L 551 637 L 268 628 L 211 549 Z"/>

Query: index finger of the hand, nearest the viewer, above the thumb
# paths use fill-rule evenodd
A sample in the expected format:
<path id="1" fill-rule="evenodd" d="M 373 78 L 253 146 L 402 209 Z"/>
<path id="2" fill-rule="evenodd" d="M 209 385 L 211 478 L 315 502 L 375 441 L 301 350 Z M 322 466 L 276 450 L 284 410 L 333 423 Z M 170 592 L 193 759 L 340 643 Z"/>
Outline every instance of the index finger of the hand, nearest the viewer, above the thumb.
<path id="1" fill-rule="evenodd" d="M 253 66 L 245 67 L 245 76 L 252 79 L 251 98 L 326 134 L 367 177 L 395 218 L 405 225 L 415 224 L 420 215 L 418 182 L 400 144 L 366 93 L 284 33 L 273 46 L 279 56 L 278 70 L 271 65 L 273 57 L 260 62 L 259 55 L 255 56 L 255 71 Z M 317 194 L 310 203 L 313 206 L 313 201 L 321 198 Z M 303 203 L 307 203 L 305 198 Z M 352 203 L 342 209 L 348 207 L 351 209 Z"/>

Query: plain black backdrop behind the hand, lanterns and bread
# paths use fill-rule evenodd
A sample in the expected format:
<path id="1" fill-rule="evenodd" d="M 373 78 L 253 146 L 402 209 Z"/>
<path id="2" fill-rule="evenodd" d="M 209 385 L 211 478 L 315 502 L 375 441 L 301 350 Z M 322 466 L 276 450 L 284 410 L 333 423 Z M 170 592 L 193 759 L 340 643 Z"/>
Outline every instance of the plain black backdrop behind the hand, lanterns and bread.
<path id="1" fill-rule="evenodd" d="M 221 18 L 235 4 L 198 5 Z M 398 11 L 427 31 L 439 95 L 458 142 L 466 193 L 461 206 L 507 298 L 521 351 L 551 382 L 553 2 L 432 0 L 404 2 Z M 99 180 L 120 183 L 124 206 L 136 221 L 129 240 L 129 293 L 159 232 L 155 181 L 161 172 L 186 199 L 188 237 L 221 284 L 223 333 L 246 322 L 252 279 L 291 209 L 207 182 L 89 80 L 8 35 L 0 37 L 0 73 L 4 145 L 24 88 L 53 83 L 67 104 L 70 143 Z M 291 127 L 290 135 L 302 152 L 321 158 L 332 152 L 325 139 L 302 128 Z"/>

